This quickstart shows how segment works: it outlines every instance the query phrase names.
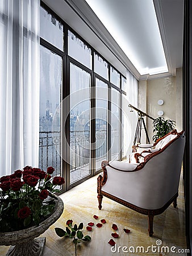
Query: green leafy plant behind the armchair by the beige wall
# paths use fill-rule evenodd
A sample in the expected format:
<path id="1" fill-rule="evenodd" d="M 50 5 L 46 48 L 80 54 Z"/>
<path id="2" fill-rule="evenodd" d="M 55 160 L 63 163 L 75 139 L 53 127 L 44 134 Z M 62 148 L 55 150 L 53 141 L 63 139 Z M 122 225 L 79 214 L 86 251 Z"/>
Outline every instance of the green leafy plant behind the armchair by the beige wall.
<path id="1" fill-rule="evenodd" d="M 164 117 L 158 117 L 153 121 L 153 141 L 157 141 L 157 139 L 164 137 L 166 134 L 170 133 L 174 129 L 176 125 L 176 121 L 166 119 Z"/>

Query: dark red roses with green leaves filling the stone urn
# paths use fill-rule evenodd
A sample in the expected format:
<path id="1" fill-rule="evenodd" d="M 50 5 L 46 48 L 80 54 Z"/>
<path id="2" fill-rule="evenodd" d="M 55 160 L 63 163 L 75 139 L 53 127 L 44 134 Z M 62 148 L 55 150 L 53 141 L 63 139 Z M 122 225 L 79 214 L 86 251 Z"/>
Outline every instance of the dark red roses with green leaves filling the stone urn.
<path id="1" fill-rule="evenodd" d="M 26 166 L 14 174 L 0 178 L 0 230 L 12 232 L 29 228 L 47 218 L 55 208 L 54 192 L 58 185 L 65 183 L 63 177 L 40 168 Z M 48 197 L 49 196 L 49 197 Z"/>

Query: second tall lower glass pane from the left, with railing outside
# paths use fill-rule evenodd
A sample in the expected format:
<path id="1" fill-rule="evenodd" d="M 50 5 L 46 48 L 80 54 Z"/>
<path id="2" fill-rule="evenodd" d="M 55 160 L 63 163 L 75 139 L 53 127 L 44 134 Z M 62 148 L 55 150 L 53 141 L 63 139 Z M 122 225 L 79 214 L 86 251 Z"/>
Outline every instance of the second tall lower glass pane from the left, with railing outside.
<path id="1" fill-rule="evenodd" d="M 70 184 L 90 175 L 90 74 L 70 63 Z"/>

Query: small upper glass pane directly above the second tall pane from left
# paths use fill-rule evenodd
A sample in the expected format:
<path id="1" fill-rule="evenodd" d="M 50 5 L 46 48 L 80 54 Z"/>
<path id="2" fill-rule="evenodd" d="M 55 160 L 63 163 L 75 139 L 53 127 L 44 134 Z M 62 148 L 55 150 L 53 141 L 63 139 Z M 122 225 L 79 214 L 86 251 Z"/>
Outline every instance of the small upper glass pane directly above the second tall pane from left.
<path id="1" fill-rule="evenodd" d="M 68 54 L 87 68 L 92 69 L 91 48 L 77 38 L 70 30 L 68 30 Z"/>

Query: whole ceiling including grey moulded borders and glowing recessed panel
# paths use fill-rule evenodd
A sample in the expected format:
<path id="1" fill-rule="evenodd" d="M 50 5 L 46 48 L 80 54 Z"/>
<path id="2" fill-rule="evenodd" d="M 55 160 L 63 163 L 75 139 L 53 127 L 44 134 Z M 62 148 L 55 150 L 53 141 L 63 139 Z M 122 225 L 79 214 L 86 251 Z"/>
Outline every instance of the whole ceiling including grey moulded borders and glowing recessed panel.
<path id="1" fill-rule="evenodd" d="M 116 40 L 85 0 L 43 1 L 124 75 L 127 68 L 137 79 L 153 79 L 176 75 L 176 68 L 182 67 L 183 0 L 153 0 L 165 55 L 157 40 L 158 28 L 147 24 L 153 15 L 149 13 L 151 0 L 86 0 L 108 12 L 108 24 L 115 21 L 112 28 L 120 35 Z M 165 67 L 165 58 L 168 72 L 149 75 L 150 70 Z"/>

